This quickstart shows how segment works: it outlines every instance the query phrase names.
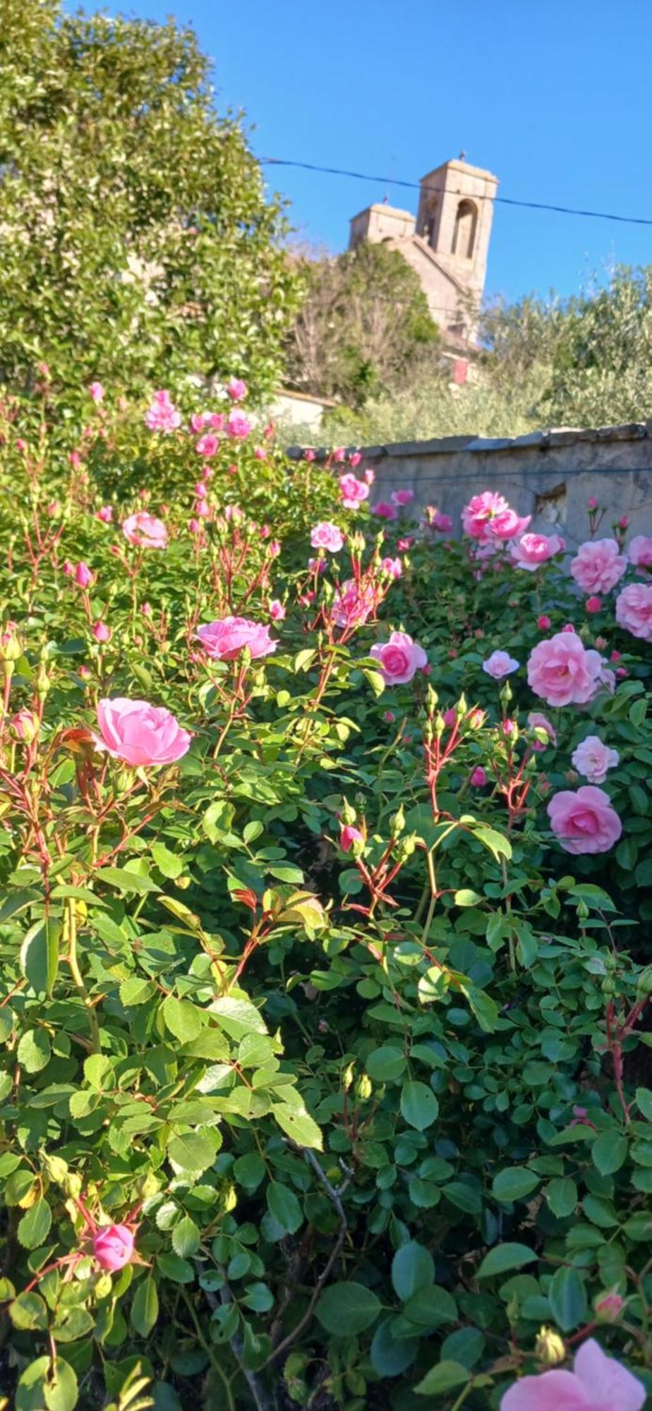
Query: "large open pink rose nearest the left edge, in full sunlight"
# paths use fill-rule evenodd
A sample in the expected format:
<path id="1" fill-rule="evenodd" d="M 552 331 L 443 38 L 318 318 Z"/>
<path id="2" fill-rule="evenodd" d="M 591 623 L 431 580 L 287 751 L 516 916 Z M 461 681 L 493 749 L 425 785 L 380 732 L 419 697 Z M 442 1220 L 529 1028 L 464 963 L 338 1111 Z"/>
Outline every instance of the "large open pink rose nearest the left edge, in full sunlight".
<path id="1" fill-rule="evenodd" d="M 97 706 L 99 735 L 96 749 L 127 765 L 172 765 L 191 748 L 192 735 L 162 706 L 133 701 L 124 696 L 102 700 Z"/>

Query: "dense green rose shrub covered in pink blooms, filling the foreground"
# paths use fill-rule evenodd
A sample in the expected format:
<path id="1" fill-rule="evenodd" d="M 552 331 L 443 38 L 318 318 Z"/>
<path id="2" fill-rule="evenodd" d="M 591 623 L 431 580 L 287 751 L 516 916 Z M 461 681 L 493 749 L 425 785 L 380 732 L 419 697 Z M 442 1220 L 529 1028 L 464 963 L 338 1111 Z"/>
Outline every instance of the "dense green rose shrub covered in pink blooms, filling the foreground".
<path id="1" fill-rule="evenodd" d="M 639 1407 L 651 545 L 381 525 L 243 391 L 4 408 L 7 1404 L 543 1408 L 598 1326 Z"/>

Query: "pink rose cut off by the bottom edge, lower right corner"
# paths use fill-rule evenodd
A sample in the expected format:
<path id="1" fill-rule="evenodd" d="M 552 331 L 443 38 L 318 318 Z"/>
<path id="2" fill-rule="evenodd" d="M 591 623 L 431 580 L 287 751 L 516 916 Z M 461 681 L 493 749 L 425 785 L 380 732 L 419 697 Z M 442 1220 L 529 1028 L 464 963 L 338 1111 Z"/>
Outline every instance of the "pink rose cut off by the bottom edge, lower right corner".
<path id="1" fill-rule="evenodd" d="M 500 1411 L 641 1411 L 645 1400 L 638 1377 L 588 1338 L 576 1352 L 573 1371 L 521 1377 L 505 1391 Z"/>

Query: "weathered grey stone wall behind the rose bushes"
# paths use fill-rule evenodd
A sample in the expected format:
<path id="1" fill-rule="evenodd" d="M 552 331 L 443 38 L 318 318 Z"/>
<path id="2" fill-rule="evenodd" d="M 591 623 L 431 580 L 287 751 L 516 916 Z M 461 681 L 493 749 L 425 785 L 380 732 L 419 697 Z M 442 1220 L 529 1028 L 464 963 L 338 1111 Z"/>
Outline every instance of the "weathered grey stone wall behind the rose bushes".
<path id="1" fill-rule="evenodd" d="M 546 533 L 555 526 L 569 549 L 588 535 L 590 495 L 607 507 L 600 535 L 611 535 L 612 519 L 627 514 L 631 533 L 652 536 L 652 420 L 596 430 L 559 428 L 512 440 L 397 442 L 366 447 L 363 466 L 375 470 L 373 504 L 390 499 L 392 490 L 412 490 L 408 514 L 419 518 L 426 505 L 436 505 L 452 516 L 456 532 L 471 495 L 498 490 L 521 515 L 532 515 L 531 529 Z"/>

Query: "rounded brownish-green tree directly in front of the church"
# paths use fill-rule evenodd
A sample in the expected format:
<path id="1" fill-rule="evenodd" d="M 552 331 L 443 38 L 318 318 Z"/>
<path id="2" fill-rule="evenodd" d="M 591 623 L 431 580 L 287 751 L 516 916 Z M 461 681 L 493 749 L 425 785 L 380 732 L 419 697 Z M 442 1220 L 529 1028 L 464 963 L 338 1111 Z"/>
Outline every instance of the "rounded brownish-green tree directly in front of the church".
<path id="1" fill-rule="evenodd" d="M 391 391 L 439 346 L 426 296 L 402 254 L 363 243 L 303 260 L 308 293 L 292 329 L 289 380 L 363 405 Z"/>

